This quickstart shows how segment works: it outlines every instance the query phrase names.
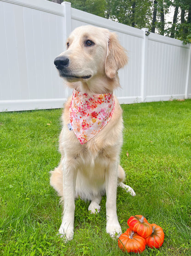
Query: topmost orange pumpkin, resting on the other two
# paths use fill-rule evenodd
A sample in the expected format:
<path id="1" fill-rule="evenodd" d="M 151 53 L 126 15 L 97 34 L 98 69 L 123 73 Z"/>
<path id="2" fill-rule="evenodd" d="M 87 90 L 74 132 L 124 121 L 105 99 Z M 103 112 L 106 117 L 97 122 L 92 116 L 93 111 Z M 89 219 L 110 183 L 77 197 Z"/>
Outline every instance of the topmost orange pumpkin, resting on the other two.
<path id="1" fill-rule="evenodd" d="M 137 232 L 143 238 L 147 238 L 152 234 L 151 224 L 142 215 L 131 216 L 127 224 L 131 230 Z"/>

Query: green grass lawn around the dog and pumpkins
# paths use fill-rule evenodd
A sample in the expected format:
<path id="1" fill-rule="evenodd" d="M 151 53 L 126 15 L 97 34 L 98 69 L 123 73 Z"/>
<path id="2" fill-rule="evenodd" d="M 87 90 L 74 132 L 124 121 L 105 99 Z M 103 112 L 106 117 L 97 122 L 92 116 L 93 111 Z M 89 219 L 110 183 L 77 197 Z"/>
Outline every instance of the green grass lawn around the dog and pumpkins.
<path id="1" fill-rule="evenodd" d="M 191 100 L 122 107 L 121 165 L 136 192 L 132 197 L 118 188 L 122 230 L 130 215 L 143 214 L 165 233 L 163 246 L 146 248 L 143 256 L 190 256 Z M 97 215 L 78 199 L 73 241 L 64 244 L 57 236 L 62 206 L 49 171 L 60 160 L 61 114 L 60 109 L 0 113 L 0 255 L 125 255 L 105 231 L 106 197 Z"/>

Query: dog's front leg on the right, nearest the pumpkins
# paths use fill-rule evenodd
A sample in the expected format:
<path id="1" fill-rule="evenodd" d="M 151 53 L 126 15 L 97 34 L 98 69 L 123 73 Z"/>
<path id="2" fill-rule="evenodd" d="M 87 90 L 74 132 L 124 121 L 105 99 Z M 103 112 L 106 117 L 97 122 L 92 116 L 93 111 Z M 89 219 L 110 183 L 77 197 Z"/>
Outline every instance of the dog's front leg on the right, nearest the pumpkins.
<path id="1" fill-rule="evenodd" d="M 106 171 L 106 232 L 111 237 L 119 237 L 122 233 L 121 226 L 118 222 L 116 196 L 118 181 L 118 163 L 113 161 L 109 164 Z"/>

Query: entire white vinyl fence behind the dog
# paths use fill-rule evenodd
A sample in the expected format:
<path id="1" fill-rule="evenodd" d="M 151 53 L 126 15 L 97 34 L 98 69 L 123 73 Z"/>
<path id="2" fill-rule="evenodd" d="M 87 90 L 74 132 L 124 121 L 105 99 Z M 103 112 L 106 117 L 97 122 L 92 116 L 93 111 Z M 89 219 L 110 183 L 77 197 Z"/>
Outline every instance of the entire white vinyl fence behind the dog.
<path id="1" fill-rule="evenodd" d="M 69 33 L 92 24 L 118 34 L 129 55 L 120 103 L 191 98 L 191 45 L 47 0 L 0 0 L 0 111 L 60 108 L 71 94 L 53 64 Z"/>

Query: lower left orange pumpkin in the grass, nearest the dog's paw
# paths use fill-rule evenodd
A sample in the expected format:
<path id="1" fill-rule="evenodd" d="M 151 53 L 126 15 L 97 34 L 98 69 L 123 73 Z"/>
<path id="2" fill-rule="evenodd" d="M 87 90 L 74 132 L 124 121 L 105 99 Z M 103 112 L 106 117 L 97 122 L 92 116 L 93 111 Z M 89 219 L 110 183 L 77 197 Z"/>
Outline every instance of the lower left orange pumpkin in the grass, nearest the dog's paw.
<path id="1" fill-rule="evenodd" d="M 118 246 L 123 251 L 140 253 L 145 250 L 146 240 L 128 228 L 118 238 Z"/>

